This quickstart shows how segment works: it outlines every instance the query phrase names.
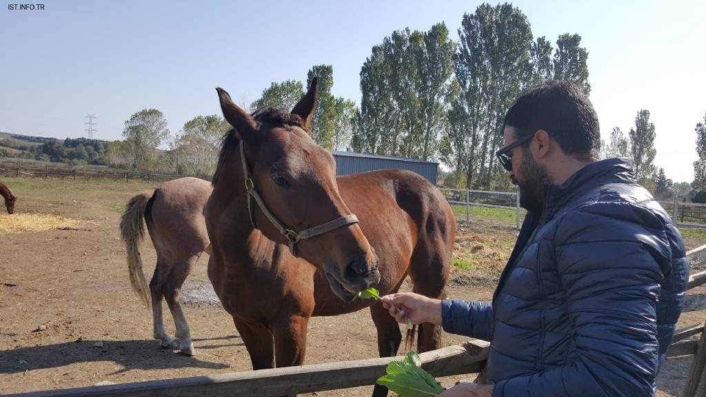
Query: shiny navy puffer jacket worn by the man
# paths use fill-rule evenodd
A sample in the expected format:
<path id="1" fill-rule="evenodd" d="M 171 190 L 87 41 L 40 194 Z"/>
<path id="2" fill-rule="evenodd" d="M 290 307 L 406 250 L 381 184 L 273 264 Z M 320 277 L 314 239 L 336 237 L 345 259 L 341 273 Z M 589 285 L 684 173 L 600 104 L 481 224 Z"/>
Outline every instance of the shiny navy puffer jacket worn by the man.
<path id="1" fill-rule="evenodd" d="M 549 186 L 492 304 L 445 300 L 443 327 L 491 341 L 493 396 L 654 396 L 687 283 L 669 215 L 602 160 Z"/>

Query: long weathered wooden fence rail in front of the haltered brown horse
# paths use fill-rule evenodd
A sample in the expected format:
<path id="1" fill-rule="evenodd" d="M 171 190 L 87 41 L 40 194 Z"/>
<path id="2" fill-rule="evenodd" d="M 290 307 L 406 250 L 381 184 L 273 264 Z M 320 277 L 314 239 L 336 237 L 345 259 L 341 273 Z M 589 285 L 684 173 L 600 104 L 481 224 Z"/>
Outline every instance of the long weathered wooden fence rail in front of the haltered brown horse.
<path id="1" fill-rule="evenodd" d="M 434 377 L 480 372 L 485 366 L 489 343 L 476 340 L 465 346 L 448 346 L 419 355 L 422 367 Z M 403 360 L 404 357 L 394 357 Z M 385 367 L 393 357 L 369 360 L 331 362 L 261 369 L 259 371 L 229 372 L 208 377 L 191 377 L 144 381 L 131 384 L 90 386 L 78 389 L 35 391 L 11 394 L 14 397 L 276 397 L 285 394 L 311 393 L 375 384 L 385 374 Z"/>

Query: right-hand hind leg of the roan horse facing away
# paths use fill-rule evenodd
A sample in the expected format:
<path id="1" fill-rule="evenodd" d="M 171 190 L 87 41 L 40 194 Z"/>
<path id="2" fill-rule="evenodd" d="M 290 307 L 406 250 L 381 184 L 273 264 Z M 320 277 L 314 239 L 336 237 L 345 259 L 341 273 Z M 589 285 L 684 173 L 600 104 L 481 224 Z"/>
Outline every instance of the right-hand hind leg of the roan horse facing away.
<path id="1" fill-rule="evenodd" d="M 167 278 L 167 283 L 165 283 L 164 287 L 164 300 L 167 300 L 169 311 L 172 312 L 172 318 L 174 319 L 174 326 L 177 328 L 179 349 L 185 355 L 196 355 L 196 350 L 194 350 L 191 342 L 189 324 L 186 322 L 186 316 L 184 316 L 184 311 L 179 303 L 179 292 L 184 280 L 193 270 L 197 259 L 198 255 L 191 256 L 189 259 L 174 259 L 172 271 L 169 273 L 169 278 Z"/>

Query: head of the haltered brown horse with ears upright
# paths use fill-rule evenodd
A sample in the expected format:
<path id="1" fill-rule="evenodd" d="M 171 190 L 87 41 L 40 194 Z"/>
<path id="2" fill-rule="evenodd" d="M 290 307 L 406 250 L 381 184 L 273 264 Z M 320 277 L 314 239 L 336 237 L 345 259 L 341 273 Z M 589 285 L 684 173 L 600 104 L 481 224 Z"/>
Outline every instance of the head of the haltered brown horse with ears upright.
<path id="1" fill-rule="evenodd" d="M 342 300 L 353 300 L 360 290 L 377 285 L 377 256 L 338 192 L 333 156 L 311 138 L 316 80 L 291 113 L 265 109 L 248 114 L 225 90 L 217 91 L 233 130 L 223 143 L 213 180 L 220 183 L 227 164 L 229 174 L 241 174 L 238 179 L 246 189 L 239 190 L 251 207 L 251 220 L 243 221 L 313 263 Z M 226 162 L 228 153 L 239 153 L 240 160 Z"/>

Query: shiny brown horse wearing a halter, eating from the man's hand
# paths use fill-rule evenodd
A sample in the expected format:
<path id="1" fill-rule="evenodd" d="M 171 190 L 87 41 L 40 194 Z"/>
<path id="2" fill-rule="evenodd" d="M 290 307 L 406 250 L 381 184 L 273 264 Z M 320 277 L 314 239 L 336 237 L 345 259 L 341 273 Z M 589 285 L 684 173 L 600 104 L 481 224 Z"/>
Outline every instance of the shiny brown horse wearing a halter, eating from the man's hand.
<path id="1" fill-rule="evenodd" d="M 396 292 L 409 275 L 415 292 L 443 297 L 456 230 L 448 203 L 413 172 L 336 178 L 333 157 L 311 138 L 316 80 L 291 114 L 248 114 L 217 91 L 233 129 L 205 209 L 208 276 L 253 369 L 301 365 L 311 316 L 368 306 L 379 354 L 395 355 L 397 322 L 357 292 Z M 421 324 L 419 350 L 438 348 L 440 335 Z M 386 393 L 376 386 L 373 396 Z"/>

